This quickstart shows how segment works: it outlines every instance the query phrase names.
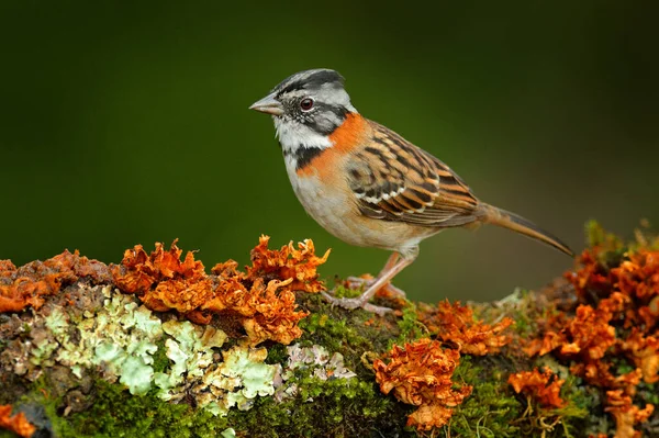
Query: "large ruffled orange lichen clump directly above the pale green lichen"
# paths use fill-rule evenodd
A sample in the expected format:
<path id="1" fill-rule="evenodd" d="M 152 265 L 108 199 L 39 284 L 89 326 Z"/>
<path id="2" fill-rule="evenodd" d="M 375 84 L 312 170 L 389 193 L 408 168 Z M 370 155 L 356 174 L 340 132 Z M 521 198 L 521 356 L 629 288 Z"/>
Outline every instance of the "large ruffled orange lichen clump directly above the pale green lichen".
<path id="1" fill-rule="evenodd" d="M 176 310 L 198 324 L 209 324 L 214 314 L 235 316 L 250 345 L 270 339 L 290 344 L 302 336 L 298 322 L 308 315 L 298 311 L 294 291 L 319 292 L 316 267 L 327 259 L 314 254 L 313 243 L 305 240 L 294 249 L 292 243 L 281 249 L 268 249 L 267 236 L 252 251 L 252 267 L 237 270 L 233 260 L 216 265 L 212 276 L 176 240 L 168 251 L 163 245 L 147 255 L 142 245 L 124 252 L 121 266 L 112 267 L 116 285 L 135 293 L 157 312 Z"/>

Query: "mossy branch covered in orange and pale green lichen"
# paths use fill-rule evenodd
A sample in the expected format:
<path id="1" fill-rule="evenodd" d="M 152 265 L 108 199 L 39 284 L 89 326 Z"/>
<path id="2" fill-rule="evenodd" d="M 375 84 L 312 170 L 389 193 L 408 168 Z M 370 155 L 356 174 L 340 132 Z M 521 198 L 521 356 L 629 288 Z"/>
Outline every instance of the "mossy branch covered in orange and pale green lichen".
<path id="1" fill-rule="evenodd" d="M 0 437 L 657 435 L 659 240 L 589 235 L 546 290 L 465 306 L 382 291 L 384 317 L 314 293 L 309 242 L 261 239 L 246 273 L 176 246 L 0 262 Z"/>

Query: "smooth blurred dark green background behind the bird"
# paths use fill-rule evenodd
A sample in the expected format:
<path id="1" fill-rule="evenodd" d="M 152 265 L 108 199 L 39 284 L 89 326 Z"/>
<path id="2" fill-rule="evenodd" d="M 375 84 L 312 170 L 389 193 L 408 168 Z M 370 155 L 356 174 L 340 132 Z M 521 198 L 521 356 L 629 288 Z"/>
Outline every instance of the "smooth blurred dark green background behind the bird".
<path id="1" fill-rule="evenodd" d="M 179 237 L 206 267 L 246 263 L 265 233 L 333 248 L 325 278 L 377 273 L 388 255 L 305 215 L 270 119 L 247 110 L 314 67 L 576 250 L 591 217 L 659 223 L 656 2 L 407 3 L 2 1 L 0 258 L 118 262 Z M 506 231 L 449 231 L 395 283 L 491 300 L 570 266 Z"/>

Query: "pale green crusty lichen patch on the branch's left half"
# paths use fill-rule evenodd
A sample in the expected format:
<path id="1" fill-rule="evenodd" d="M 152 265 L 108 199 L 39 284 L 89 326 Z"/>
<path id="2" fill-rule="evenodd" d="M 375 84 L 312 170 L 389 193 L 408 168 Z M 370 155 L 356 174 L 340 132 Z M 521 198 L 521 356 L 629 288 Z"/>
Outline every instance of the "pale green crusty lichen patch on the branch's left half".
<path id="1" fill-rule="evenodd" d="M 96 312 L 52 310 L 42 322 L 45 330 L 29 348 L 34 366 L 67 366 L 79 378 L 93 369 L 131 394 L 150 391 L 170 403 L 193 400 L 215 416 L 225 416 L 233 407 L 247 411 L 258 397 L 276 391 L 277 401 L 291 398 L 301 377 L 323 382 L 356 375 L 339 352 L 319 345 L 289 346 L 282 368 L 266 363 L 265 348 L 222 349 L 226 334 L 211 325 L 176 318 L 163 323 L 134 296 L 110 287 L 101 291 L 103 304 Z"/>

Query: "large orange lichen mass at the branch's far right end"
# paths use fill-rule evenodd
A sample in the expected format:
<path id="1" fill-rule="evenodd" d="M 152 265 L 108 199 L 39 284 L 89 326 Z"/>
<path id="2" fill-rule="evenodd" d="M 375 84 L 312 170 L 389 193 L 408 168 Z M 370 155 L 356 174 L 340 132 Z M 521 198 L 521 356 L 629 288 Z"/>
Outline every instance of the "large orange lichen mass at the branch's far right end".
<path id="1" fill-rule="evenodd" d="M 644 245 L 625 252 L 610 239 L 584 250 L 565 276 L 578 297 L 574 314 L 549 316 L 543 338 L 525 349 L 530 356 L 554 352 L 571 361 L 573 374 L 606 390 L 616 438 L 640 436 L 634 425 L 654 406 L 633 404 L 637 385 L 659 381 L 659 251 Z M 614 363 L 621 362 L 635 369 L 619 373 Z"/>

